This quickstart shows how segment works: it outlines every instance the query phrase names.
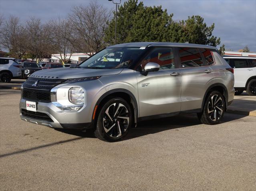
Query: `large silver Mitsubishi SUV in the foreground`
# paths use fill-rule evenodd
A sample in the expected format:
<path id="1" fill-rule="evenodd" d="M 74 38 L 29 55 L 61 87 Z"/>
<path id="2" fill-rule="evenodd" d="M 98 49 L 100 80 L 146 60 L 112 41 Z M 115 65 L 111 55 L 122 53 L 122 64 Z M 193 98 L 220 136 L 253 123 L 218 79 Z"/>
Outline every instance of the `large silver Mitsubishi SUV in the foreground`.
<path id="1" fill-rule="evenodd" d="M 233 69 L 216 47 L 126 43 L 76 68 L 36 71 L 22 86 L 22 120 L 51 128 L 93 128 L 117 141 L 141 120 L 197 113 L 217 124 L 234 98 Z"/>

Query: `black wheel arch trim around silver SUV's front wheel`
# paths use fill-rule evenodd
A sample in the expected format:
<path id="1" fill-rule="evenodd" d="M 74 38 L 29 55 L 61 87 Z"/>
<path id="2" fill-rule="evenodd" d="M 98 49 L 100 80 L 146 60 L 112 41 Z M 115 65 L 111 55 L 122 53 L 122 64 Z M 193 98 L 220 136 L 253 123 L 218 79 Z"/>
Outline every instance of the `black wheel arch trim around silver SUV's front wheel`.
<path id="1" fill-rule="evenodd" d="M 94 112 L 96 106 L 98 106 L 104 98 L 106 98 L 107 96 L 109 96 L 109 95 L 111 95 L 111 94 L 113 94 L 113 93 L 126 93 L 127 95 L 130 96 L 130 98 L 131 98 L 131 104 L 133 105 L 134 122 L 135 122 L 135 124 L 137 124 L 137 119 L 138 119 L 138 104 L 137 104 L 137 100 L 136 100 L 135 96 L 133 95 L 133 93 L 131 93 L 131 92 L 130 92 L 129 90 L 127 90 L 127 89 L 118 88 L 118 89 L 113 89 L 113 90 L 110 90 L 110 91 L 104 93 L 104 94 L 97 100 L 97 102 L 96 102 L 96 104 L 95 104 L 95 106 L 94 106 L 93 112 Z M 98 112 L 98 111 L 96 111 L 96 112 Z M 95 125 L 95 124 L 94 124 L 95 120 L 93 120 L 93 116 L 92 116 L 92 120 L 91 120 L 91 121 L 92 121 L 92 126 L 94 126 L 94 125 Z"/>

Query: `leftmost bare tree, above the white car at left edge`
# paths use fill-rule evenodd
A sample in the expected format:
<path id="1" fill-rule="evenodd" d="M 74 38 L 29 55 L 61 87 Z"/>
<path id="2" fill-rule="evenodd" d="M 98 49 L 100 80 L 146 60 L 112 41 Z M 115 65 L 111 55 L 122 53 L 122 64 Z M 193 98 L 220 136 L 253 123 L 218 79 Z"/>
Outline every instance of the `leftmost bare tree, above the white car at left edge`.
<path id="1" fill-rule="evenodd" d="M 1 35 L 1 44 L 9 50 L 10 56 L 21 59 L 26 53 L 26 37 L 19 18 L 10 16 L 3 24 Z"/>

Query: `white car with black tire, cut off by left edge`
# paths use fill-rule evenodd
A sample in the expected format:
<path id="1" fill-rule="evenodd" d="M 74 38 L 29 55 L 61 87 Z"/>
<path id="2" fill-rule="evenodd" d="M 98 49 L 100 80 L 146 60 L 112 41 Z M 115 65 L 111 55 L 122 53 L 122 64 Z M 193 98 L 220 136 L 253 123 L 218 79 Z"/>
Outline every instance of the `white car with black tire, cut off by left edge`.
<path id="1" fill-rule="evenodd" d="M 20 64 L 15 58 L 0 57 L 0 81 L 9 83 L 12 78 L 20 77 Z"/>

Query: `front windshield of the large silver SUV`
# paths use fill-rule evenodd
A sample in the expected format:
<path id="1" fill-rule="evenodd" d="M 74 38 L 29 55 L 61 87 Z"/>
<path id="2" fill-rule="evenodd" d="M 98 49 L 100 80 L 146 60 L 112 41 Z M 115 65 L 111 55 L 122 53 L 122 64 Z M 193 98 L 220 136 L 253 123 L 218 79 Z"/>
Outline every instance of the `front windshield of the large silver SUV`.
<path id="1" fill-rule="evenodd" d="M 145 47 L 109 47 L 83 61 L 78 68 L 127 68 L 145 51 Z"/>

